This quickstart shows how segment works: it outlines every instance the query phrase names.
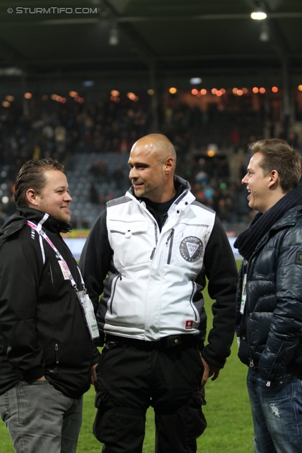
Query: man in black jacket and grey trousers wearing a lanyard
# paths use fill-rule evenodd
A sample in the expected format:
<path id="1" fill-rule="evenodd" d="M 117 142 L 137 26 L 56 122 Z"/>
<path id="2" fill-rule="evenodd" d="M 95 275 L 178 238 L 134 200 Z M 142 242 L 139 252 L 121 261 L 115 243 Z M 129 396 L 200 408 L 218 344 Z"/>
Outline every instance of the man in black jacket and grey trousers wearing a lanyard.
<path id="1" fill-rule="evenodd" d="M 18 214 L 0 231 L 0 415 L 17 453 L 76 452 L 98 350 L 81 273 L 59 234 L 70 229 L 63 166 L 28 161 L 15 201 Z"/>

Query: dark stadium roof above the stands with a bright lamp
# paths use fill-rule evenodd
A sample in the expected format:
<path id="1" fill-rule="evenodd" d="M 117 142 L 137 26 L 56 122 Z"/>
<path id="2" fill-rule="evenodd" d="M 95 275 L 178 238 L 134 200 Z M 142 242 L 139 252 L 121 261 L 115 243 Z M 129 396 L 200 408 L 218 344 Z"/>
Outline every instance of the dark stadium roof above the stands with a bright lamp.
<path id="1" fill-rule="evenodd" d="M 302 84 L 302 0 L 10 0 L 0 25 L 3 80 Z"/>

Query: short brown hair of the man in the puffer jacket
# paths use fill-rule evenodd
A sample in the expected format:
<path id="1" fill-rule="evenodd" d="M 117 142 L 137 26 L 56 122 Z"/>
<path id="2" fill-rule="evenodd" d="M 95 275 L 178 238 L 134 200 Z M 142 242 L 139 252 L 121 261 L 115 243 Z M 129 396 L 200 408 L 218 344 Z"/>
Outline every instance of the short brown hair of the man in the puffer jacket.
<path id="1" fill-rule="evenodd" d="M 260 152 L 263 155 L 259 165 L 265 176 L 277 170 L 284 193 L 298 185 L 301 178 L 301 154 L 298 149 L 281 139 L 258 140 L 250 144 L 249 149 L 252 154 Z"/>

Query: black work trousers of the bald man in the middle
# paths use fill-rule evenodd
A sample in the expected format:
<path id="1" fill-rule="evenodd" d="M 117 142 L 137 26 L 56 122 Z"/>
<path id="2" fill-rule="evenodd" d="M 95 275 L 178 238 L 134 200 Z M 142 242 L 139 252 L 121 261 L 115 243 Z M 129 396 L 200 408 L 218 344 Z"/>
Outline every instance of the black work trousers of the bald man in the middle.
<path id="1" fill-rule="evenodd" d="M 204 371 L 193 336 L 178 345 L 110 336 L 97 367 L 95 437 L 103 453 L 141 453 L 146 410 L 156 423 L 156 453 L 195 453 L 207 427 L 199 390 Z"/>

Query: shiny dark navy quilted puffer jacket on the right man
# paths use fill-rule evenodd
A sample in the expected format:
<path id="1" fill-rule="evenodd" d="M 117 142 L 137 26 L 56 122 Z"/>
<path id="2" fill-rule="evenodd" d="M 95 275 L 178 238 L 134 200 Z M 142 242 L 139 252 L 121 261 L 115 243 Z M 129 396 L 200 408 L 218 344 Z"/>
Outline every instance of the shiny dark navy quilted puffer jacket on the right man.
<path id="1" fill-rule="evenodd" d="M 240 314 L 243 275 L 247 297 Z M 240 269 L 237 292 L 239 358 L 265 382 L 302 378 L 302 206 L 279 219 Z M 269 385 L 269 384 L 268 384 Z"/>

